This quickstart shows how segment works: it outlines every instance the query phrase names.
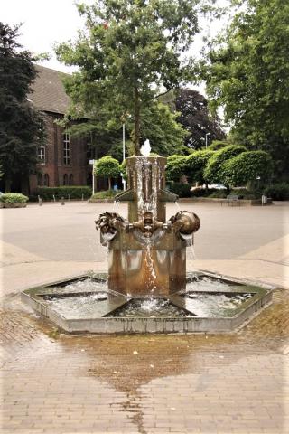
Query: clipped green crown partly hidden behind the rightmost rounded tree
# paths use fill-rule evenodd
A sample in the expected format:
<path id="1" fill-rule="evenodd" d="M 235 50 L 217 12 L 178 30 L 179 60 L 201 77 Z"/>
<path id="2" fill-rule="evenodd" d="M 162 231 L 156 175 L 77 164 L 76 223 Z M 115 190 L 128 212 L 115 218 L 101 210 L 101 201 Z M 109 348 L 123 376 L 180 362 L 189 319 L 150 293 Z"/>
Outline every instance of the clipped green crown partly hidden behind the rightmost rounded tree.
<path id="1" fill-rule="evenodd" d="M 245 151 L 245 146 L 229 145 L 214 152 L 204 170 L 204 178 L 210 183 L 224 183 L 222 165 Z"/>

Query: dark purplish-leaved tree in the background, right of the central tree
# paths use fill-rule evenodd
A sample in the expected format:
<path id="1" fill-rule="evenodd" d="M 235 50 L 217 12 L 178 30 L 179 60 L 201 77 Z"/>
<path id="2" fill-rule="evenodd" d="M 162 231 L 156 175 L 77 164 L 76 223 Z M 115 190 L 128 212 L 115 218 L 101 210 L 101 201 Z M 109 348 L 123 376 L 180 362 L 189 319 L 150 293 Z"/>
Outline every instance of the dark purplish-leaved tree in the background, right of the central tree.
<path id="1" fill-rule="evenodd" d="M 188 131 L 185 146 L 200 149 L 208 143 L 225 138 L 217 115 L 210 116 L 208 101 L 197 90 L 180 89 L 176 91 L 175 109 L 180 113 L 178 122 Z"/>

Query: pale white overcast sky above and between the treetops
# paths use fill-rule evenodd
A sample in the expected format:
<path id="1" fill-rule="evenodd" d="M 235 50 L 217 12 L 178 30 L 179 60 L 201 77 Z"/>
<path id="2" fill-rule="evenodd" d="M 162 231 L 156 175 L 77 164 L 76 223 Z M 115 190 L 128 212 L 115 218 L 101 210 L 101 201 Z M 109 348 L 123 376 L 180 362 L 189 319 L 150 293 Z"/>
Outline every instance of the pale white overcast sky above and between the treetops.
<path id="1" fill-rule="evenodd" d="M 94 0 L 81 3 L 91 5 Z M 227 3 L 228 0 L 218 0 L 219 5 Z M 42 61 L 43 66 L 63 72 L 75 71 L 57 61 L 53 52 L 55 42 L 73 41 L 77 30 L 83 28 L 84 20 L 79 16 L 75 0 L 0 0 L 0 20 L 10 26 L 23 23 L 18 41 L 33 54 L 49 53 L 51 60 Z M 219 26 L 219 22 L 203 23 L 203 32 L 215 34 Z M 198 35 L 193 51 L 200 51 L 200 47 L 201 35 Z M 204 93 L 203 85 L 196 89 Z"/>

